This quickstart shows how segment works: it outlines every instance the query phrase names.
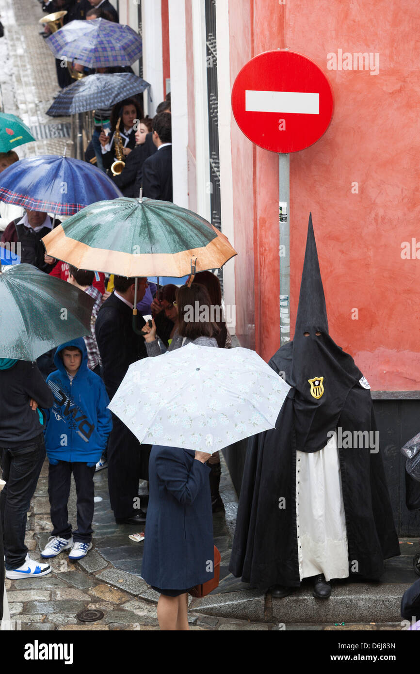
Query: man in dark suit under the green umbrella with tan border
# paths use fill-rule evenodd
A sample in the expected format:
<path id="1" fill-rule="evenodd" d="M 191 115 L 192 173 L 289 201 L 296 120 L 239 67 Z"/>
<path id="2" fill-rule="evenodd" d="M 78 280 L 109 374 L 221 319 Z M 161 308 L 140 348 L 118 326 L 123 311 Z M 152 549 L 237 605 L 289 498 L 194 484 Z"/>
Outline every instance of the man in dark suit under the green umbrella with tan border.
<path id="1" fill-rule="evenodd" d="M 146 293 L 146 278 L 115 276 L 115 290 L 98 311 L 96 342 L 102 360 L 102 377 L 109 398 L 113 398 L 131 363 L 147 357 L 144 338 L 133 331 L 133 303 L 138 282 L 140 301 Z M 138 315 L 138 330 L 145 325 Z M 119 524 L 141 524 L 142 510 L 135 510 L 139 480 L 148 479 L 150 446 L 142 445 L 125 424 L 113 415 L 108 442 L 108 486 L 111 508 Z"/>

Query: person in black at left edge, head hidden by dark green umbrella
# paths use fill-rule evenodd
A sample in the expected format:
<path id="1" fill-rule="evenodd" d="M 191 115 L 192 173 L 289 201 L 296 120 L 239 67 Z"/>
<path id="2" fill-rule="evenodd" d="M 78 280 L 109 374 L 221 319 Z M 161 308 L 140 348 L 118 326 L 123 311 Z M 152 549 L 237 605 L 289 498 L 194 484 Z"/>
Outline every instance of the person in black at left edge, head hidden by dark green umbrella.
<path id="1" fill-rule="evenodd" d="M 6 578 L 45 576 L 51 567 L 30 559 L 26 514 L 45 458 L 44 415 L 54 397 L 34 363 L 0 359 L 0 463 L 6 485 L 0 494 Z M 2 557 L 3 559 L 3 557 Z"/>

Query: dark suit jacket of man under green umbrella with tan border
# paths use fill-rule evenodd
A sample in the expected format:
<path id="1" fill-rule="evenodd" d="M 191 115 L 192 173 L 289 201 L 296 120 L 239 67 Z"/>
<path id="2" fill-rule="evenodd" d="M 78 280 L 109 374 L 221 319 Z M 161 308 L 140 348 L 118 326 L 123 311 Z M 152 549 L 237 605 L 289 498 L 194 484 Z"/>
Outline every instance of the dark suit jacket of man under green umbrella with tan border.
<path id="1" fill-rule="evenodd" d="M 133 311 L 114 293 L 98 311 L 96 342 L 102 360 L 102 377 L 109 398 L 113 398 L 131 363 L 147 357 L 144 338 L 133 331 Z M 138 314 L 138 329 L 145 325 Z"/>

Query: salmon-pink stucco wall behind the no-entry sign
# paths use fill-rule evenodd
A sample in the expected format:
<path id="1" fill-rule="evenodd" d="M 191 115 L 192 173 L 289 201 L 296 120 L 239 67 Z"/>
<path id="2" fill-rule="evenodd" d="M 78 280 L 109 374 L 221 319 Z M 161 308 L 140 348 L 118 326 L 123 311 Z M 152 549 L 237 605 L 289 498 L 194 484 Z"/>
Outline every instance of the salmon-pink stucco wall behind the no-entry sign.
<path id="1" fill-rule="evenodd" d="M 318 63 L 334 90 L 329 129 L 291 155 L 292 335 L 311 211 L 332 338 L 352 353 L 373 389 L 419 389 L 420 259 L 402 259 L 401 245 L 416 236 L 420 242 L 420 5 L 231 0 L 229 20 L 232 82 L 251 56 L 285 46 Z M 372 67 L 328 69 L 327 55 L 338 50 L 370 53 Z M 371 75 L 376 54 L 379 72 Z M 268 359 L 279 344 L 277 161 L 253 150 L 234 119 L 232 142 L 237 316 L 246 332 L 249 309 L 240 303 L 254 293 L 256 344 Z M 250 179 L 258 196 L 245 208 Z M 248 278 L 251 241 L 255 288 Z"/>

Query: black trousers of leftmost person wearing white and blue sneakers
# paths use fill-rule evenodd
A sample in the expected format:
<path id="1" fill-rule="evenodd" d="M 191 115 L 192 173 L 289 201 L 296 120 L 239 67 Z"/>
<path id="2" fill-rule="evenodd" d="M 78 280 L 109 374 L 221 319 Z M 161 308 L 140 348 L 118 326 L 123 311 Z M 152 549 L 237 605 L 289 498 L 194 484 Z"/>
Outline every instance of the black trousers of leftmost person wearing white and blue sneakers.
<path id="1" fill-rule="evenodd" d="M 44 458 L 43 433 L 21 446 L 0 448 L 2 477 L 7 482 L 0 493 L 0 512 L 6 569 L 9 571 L 22 566 L 28 553 L 25 545 L 26 514 Z"/>

